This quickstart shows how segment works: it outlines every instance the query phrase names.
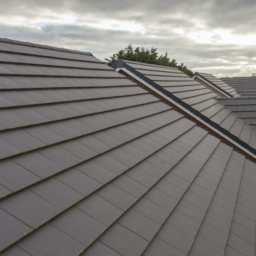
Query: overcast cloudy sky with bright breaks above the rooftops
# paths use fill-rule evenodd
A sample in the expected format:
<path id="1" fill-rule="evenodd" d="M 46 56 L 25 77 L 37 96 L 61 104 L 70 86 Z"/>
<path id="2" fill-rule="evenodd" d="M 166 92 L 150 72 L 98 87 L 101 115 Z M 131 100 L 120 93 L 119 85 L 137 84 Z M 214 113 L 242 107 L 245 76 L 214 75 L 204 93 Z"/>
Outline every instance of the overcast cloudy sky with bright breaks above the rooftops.
<path id="1" fill-rule="evenodd" d="M 0 37 L 89 51 L 167 51 L 192 71 L 256 72 L 255 0 L 0 0 Z"/>

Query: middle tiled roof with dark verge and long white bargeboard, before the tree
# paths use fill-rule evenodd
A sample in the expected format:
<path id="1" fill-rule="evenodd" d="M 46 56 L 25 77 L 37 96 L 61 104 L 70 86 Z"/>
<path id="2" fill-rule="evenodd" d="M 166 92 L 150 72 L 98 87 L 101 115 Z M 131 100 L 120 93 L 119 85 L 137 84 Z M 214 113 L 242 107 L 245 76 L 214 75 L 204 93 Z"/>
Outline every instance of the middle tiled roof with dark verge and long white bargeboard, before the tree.
<path id="1" fill-rule="evenodd" d="M 256 131 L 215 97 L 217 94 L 176 68 L 117 60 L 113 66 L 169 97 L 185 110 L 256 154 Z"/>

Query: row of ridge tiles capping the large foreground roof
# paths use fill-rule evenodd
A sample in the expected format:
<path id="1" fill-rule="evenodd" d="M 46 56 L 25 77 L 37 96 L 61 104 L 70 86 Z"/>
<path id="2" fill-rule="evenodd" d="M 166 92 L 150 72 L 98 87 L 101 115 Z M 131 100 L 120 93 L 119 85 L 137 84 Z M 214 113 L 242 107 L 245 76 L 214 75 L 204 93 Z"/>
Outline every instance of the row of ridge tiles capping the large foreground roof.
<path id="1" fill-rule="evenodd" d="M 43 49 L 48 49 L 48 50 L 56 50 L 56 51 L 59 51 L 59 52 L 69 52 L 69 53 L 76 53 L 76 54 L 83 54 L 83 55 L 93 56 L 93 54 L 90 53 L 90 52 L 83 52 L 83 51 L 71 50 L 71 49 L 67 49 L 67 48 L 60 48 L 60 47 L 56 47 L 56 46 L 36 44 L 36 43 L 19 41 L 19 40 L 14 40 L 14 39 L 9 39 L 9 38 L 1 38 L 0 37 L 0 42 L 9 43 L 9 44 L 16 44 L 16 45 L 32 46 L 32 47 L 43 48 Z"/>

